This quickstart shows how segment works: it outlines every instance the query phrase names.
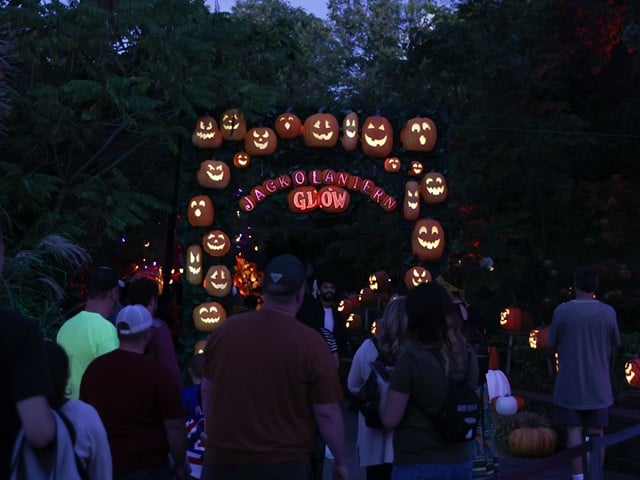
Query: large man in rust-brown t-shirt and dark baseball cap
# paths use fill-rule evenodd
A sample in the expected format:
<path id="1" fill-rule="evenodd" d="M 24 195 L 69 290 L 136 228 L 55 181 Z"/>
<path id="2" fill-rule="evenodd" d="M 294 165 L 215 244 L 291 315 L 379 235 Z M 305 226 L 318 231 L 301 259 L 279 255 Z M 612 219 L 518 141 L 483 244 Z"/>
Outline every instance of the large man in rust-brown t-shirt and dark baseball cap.
<path id="1" fill-rule="evenodd" d="M 316 424 L 335 458 L 333 478 L 348 478 L 340 380 L 323 338 L 296 319 L 305 280 L 297 257 L 273 258 L 262 309 L 211 332 L 201 384 L 202 479 L 306 480 Z"/>

